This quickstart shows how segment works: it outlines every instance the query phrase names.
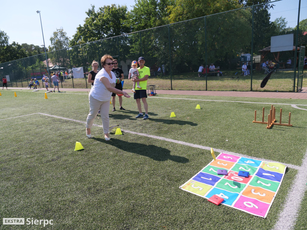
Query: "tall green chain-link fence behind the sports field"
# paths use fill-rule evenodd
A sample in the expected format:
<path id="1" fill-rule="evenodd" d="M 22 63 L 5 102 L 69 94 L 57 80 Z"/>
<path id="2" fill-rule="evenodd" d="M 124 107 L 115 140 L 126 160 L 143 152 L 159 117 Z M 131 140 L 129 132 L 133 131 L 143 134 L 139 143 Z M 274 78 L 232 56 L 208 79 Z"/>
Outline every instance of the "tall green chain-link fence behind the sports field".
<path id="1" fill-rule="evenodd" d="M 131 61 L 143 56 L 150 67 L 147 85 L 156 85 L 156 89 L 296 91 L 299 47 L 307 44 L 307 32 L 297 24 L 306 19 L 307 2 L 293 0 L 288 9 L 280 10 L 283 2 L 270 3 L 274 7 L 269 10 L 255 5 L 48 52 L 49 68 L 43 63 L 45 54 L 2 63 L 0 75 L 9 76 L 8 86 L 25 87 L 29 79 L 63 70 L 68 75 L 61 87 L 90 88 L 87 73 L 92 61 L 99 62 L 101 56 L 110 54 L 124 71 L 124 89 L 132 87 L 127 79 Z M 286 15 L 294 29 L 281 29 L 270 22 L 270 17 Z M 291 38 L 291 34 L 293 49 L 291 43 L 290 50 L 271 52 L 272 37 Z M 50 69 L 54 65 L 60 68 Z M 73 68 L 78 67 L 83 68 L 83 78 L 73 75 Z M 272 70 L 269 82 L 260 88 L 267 71 Z"/>

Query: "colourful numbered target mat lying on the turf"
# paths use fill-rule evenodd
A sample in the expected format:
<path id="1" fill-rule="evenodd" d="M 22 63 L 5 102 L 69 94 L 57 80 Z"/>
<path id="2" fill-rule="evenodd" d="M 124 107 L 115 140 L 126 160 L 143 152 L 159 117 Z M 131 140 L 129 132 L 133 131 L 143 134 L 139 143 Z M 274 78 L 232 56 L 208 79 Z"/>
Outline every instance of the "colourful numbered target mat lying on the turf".
<path id="1" fill-rule="evenodd" d="M 218 169 L 226 169 L 227 175 L 218 175 Z M 239 171 L 249 176 L 240 177 Z M 224 199 L 223 205 L 266 218 L 285 171 L 281 163 L 220 153 L 179 188 L 206 199 L 217 195 Z"/>

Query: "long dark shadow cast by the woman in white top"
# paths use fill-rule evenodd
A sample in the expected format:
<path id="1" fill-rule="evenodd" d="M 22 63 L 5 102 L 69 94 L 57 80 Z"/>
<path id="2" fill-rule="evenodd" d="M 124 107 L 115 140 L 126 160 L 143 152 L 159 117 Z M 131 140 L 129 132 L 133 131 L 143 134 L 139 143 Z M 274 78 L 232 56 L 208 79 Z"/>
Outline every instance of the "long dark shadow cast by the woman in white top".
<path id="1" fill-rule="evenodd" d="M 188 158 L 185 158 L 182 156 L 171 155 L 170 151 L 167 148 L 162 148 L 162 147 L 158 147 L 155 145 L 127 142 L 124 140 L 119 140 L 119 139 L 114 139 L 114 138 L 111 138 L 110 141 L 105 141 L 104 138 L 96 138 L 96 137 L 93 137 L 92 139 L 102 142 L 104 144 L 110 144 L 123 151 L 146 156 L 146 157 L 149 157 L 157 161 L 172 160 L 177 163 L 188 163 L 189 162 Z"/>

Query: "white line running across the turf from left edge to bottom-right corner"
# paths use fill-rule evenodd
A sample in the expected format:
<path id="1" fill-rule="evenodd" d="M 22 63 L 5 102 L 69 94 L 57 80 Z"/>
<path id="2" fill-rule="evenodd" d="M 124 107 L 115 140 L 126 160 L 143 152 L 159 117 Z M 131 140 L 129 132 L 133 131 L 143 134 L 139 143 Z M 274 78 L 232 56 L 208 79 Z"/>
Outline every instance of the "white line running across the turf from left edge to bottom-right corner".
<path id="1" fill-rule="evenodd" d="M 48 116 L 48 117 L 54 117 L 54 118 L 58 118 L 58 119 L 64 119 L 64 120 L 68 120 L 68 121 L 78 122 L 78 123 L 81 123 L 81 124 L 86 124 L 85 121 L 79 121 L 79 120 L 66 118 L 66 117 L 59 117 L 59 116 L 55 116 L 55 115 L 51 115 L 51 114 L 47 114 L 47 113 L 31 113 L 31 114 L 27 114 L 27 115 L 18 116 L 18 117 L 10 117 L 10 118 L 1 119 L 0 121 L 30 116 L 30 115 L 34 115 L 34 114 L 40 114 L 40 115 L 44 115 L 44 116 Z M 95 125 L 95 124 L 94 124 L 94 126 L 103 127 L 102 125 Z M 150 135 L 150 134 L 146 134 L 146 133 L 133 132 L 133 131 L 124 130 L 124 129 L 122 131 L 127 132 L 127 133 L 131 133 L 131 134 L 135 134 L 135 135 L 139 135 L 139 136 L 146 136 L 146 137 L 150 137 L 150 138 L 154 138 L 154 139 L 158 139 L 158 140 L 164 140 L 164 141 L 173 142 L 173 143 L 176 143 L 176 144 L 186 145 L 186 146 L 190 146 L 190 147 L 193 147 L 193 148 L 210 150 L 210 147 L 206 147 L 206 146 L 203 146 L 203 145 L 191 144 L 191 143 L 184 142 L 184 141 L 173 140 L 173 139 L 169 139 L 169 138 L 165 138 L 165 137 L 161 137 L 161 136 L 154 136 L 154 135 Z M 222 149 L 215 149 L 214 148 L 214 151 L 228 153 L 228 154 L 234 154 L 234 155 L 239 155 L 239 156 L 242 156 L 242 157 L 250 158 L 250 156 L 247 156 L 247 155 L 238 154 L 238 153 L 234 153 L 234 152 L 230 152 L 230 151 L 225 151 L 225 150 L 222 150 Z M 253 157 L 253 158 L 255 158 L 255 157 Z M 268 161 L 267 159 L 261 159 L 261 158 L 255 158 L 255 159 L 261 160 L 261 161 Z M 280 163 L 280 162 L 278 162 L 278 163 Z M 296 223 L 297 216 L 298 216 L 298 211 L 301 207 L 301 201 L 302 201 L 304 194 L 305 194 L 305 191 L 307 189 L 307 187 L 306 187 L 307 171 L 305 170 L 307 168 L 307 152 L 305 153 L 305 156 L 304 156 L 304 159 L 302 161 L 301 166 L 292 165 L 292 164 L 285 164 L 285 163 L 282 163 L 282 164 L 286 165 L 289 168 L 296 169 L 297 171 L 299 171 L 299 173 L 297 173 L 295 178 L 294 178 L 293 186 L 290 188 L 290 190 L 287 194 L 286 202 L 283 205 L 283 210 L 279 214 L 278 221 L 274 225 L 274 228 L 273 228 L 274 230 L 293 229 L 293 227 Z"/>

